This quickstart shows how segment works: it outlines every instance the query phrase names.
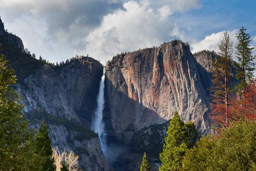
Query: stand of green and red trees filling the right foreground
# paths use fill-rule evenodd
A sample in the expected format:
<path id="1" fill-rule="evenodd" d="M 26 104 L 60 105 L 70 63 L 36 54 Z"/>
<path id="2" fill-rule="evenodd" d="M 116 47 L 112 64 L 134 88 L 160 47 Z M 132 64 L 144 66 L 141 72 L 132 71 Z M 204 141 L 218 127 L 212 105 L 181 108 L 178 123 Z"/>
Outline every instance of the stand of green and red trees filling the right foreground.
<path id="1" fill-rule="evenodd" d="M 219 39 L 218 57 L 211 63 L 212 134 L 198 137 L 195 125 L 191 121 L 185 124 L 176 111 L 159 155 L 159 171 L 256 170 L 254 47 L 250 47 L 250 35 L 245 28 L 240 29 L 236 38 L 237 60 L 232 59 L 233 42 L 225 31 Z M 140 171 L 150 171 L 146 153 Z"/>

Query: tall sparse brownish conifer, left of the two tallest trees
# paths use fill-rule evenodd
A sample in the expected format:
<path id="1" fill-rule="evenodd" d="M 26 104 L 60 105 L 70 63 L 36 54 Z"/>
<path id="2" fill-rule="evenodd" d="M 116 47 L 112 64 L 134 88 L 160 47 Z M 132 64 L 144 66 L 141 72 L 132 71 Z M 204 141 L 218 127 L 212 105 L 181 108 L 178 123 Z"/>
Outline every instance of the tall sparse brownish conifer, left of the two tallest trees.
<path id="1" fill-rule="evenodd" d="M 216 57 L 212 62 L 213 72 L 211 87 L 213 97 L 213 108 L 215 105 L 224 105 L 224 113 L 227 115 L 227 108 L 229 106 L 231 85 L 230 78 L 231 73 L 231 62 L 232 62 L 232 41 L 227 31 L 224 32 L 223 37 L 219 39 L 219 57 Z M 213 112 L 214 113 L 214 112 Z"/>

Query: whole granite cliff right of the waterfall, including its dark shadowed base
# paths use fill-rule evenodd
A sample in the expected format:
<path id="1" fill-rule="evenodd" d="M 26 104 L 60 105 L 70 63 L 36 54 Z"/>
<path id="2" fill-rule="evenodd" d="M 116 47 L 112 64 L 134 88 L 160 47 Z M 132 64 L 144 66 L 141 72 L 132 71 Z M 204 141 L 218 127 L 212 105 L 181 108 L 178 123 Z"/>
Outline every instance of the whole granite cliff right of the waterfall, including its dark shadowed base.
<path id="1" fill-rule="evenodd" d="M 209 68 L 216 53 L 203 52 L 192 55 L 187 43 L 173 40 L 122 53 L 107 63 L 103 119 L 108 142 L 129 148 L 120 153 L 114 167 L 137 170 L 146 151 L 151 169 L 157 171 L 175 110 L 183 121 L 193 121 L 201 134 L 210 131 Z"/>

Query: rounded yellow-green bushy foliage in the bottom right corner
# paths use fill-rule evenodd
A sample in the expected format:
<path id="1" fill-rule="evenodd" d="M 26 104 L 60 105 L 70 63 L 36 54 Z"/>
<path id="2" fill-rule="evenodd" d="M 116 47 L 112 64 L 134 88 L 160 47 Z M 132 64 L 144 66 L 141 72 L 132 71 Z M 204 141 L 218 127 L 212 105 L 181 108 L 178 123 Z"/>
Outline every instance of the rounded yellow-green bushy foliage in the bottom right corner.
<path id="1" fill-rule="evenodd" d="M 254 171 L 256 122 L 238 121 L 218 137 L 202 137 L 182 163 L 186 171 Z"/>

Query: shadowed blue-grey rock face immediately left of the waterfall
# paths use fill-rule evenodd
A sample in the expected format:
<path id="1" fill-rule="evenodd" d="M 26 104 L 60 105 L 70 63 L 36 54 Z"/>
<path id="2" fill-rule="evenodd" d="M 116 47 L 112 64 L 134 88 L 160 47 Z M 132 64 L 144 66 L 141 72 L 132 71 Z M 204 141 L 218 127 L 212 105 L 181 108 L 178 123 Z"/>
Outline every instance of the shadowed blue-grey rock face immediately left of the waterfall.
<path id="1" fill-rule="evenodd" d="M 73 58 L 61 67 L 45 64 L 18 84 L 25 111 L 45 108 L 90 127 L 102 74 L 103 66 L 87 57 Z"/>

